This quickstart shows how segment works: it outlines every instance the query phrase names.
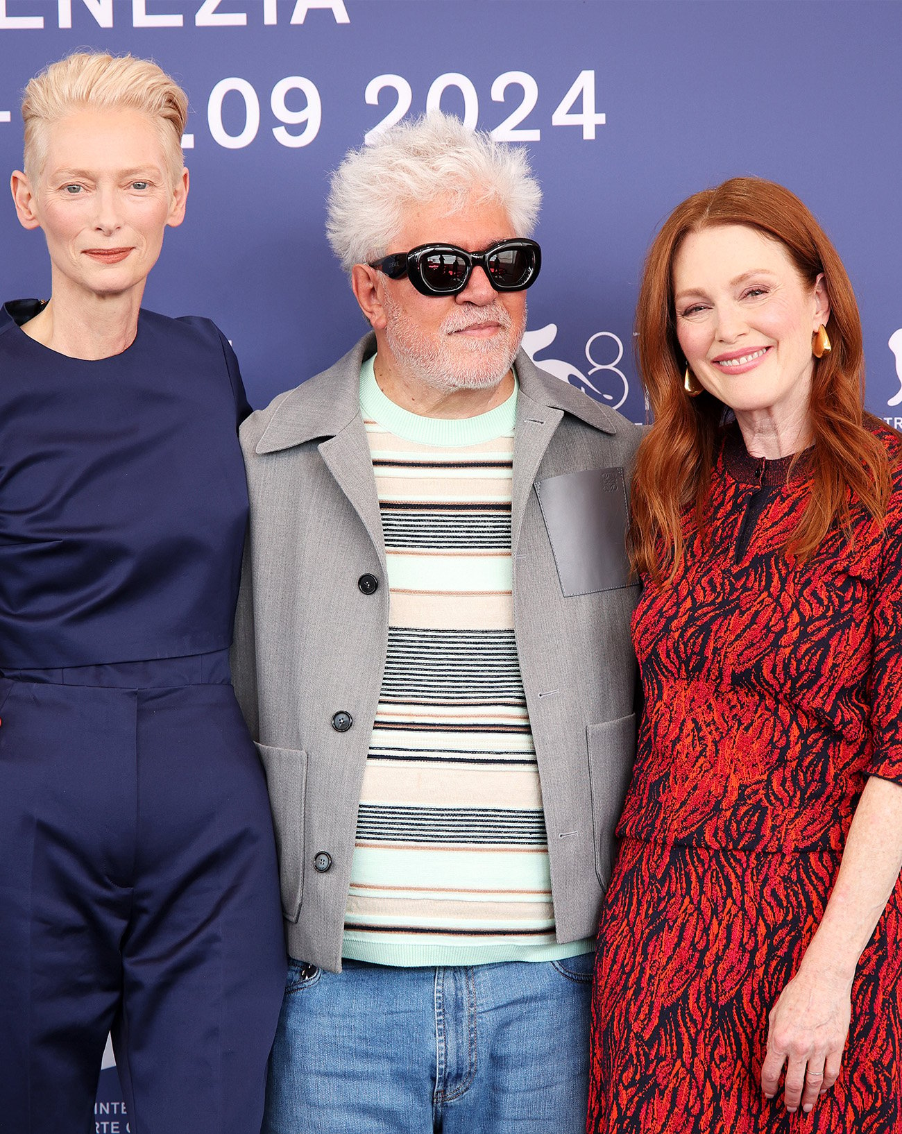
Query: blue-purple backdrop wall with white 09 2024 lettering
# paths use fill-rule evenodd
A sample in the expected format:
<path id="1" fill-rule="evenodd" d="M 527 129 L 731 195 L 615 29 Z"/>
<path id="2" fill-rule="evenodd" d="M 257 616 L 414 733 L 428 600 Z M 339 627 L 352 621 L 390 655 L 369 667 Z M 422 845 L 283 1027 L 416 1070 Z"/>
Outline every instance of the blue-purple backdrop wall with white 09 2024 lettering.
<path id="1" fill-rule="evenodd" d="M 22 164 L 20 93 L 46 62 L 130 51 L 176 76 L 188 215 L 145 305 L 212 316 L 262 406 L 365 330 L 323 231 L 330 171 L 392 122 L 456 113 L 527 146 L 544 188 L 526 349 L 635 421 L 653 234 L 697 189 L 768 177 L 836 244 L 868 406 L 902 426 L 900 44 L 897 0 L 0 0 L 0 164 Z M 9 197 L 0 249 L 0 298 L 46 297 L 42 235 Z M 96 1110 L 128 1129 L 112 1068 Z"/>

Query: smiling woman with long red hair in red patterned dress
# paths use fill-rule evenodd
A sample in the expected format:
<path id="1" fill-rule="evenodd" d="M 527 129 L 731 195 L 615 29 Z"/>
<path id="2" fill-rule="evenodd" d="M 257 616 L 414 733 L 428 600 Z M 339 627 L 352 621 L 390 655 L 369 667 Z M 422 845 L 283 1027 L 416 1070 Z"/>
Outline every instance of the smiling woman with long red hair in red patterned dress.
<path id="1" fill-rule="evenodd" d="M 902 1131 L 902 442 L 788 189 L 646 263 L 645 716 L 599 926 L 588 1129 Z M 851 1021 L 851 1023 L 850 1023 Z"/>

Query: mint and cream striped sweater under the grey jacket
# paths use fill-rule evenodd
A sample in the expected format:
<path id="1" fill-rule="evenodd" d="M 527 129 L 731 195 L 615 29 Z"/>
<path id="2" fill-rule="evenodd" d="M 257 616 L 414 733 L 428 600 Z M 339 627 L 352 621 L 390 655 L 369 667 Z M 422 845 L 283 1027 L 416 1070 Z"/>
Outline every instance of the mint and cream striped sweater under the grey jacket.
<path id="1" fill-rule="evenodd" d="M 390 587 L 389 646 L 357 819 L 343 956 L 547 960 L 547 841 L 511 599 L 517 391 L 420 417 L 360 375 Z"/>

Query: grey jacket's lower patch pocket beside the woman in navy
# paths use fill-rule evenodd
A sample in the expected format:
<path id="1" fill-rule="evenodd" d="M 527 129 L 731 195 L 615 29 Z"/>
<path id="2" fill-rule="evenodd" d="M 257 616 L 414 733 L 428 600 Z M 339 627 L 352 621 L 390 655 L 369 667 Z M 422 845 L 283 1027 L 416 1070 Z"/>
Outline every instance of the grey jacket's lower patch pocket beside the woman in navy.
<path id="1" fill-rule="evenodd" d="M 266 772 L 272 826 L 279 854 L 282 914 L 296 922 L 304 896 L 304 793 L 307 787 L 307 753 L 296 748 L 271 748 L 257 744 Z"/>

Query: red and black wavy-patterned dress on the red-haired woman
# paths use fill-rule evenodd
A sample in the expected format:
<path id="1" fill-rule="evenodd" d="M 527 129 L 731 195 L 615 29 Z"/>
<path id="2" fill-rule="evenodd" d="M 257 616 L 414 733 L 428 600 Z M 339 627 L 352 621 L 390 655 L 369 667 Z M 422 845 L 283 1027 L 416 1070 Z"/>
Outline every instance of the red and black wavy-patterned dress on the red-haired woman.
<path id="1" fill-rule="evenodd" d="M 897 462 L 902 442 L 880 437 Z M 868 776 L 902 782 L 902 472 L 806 564 L 801 460 L 731 432 L 712 527 L 633 616 L 645 716 L 598 930 L 588 1131 L 900 1134 L 902 886 L 861 956 L 835 1086 L 765 1099 L 767 1014 L 818 926 Z"/>

